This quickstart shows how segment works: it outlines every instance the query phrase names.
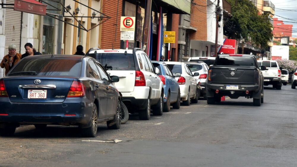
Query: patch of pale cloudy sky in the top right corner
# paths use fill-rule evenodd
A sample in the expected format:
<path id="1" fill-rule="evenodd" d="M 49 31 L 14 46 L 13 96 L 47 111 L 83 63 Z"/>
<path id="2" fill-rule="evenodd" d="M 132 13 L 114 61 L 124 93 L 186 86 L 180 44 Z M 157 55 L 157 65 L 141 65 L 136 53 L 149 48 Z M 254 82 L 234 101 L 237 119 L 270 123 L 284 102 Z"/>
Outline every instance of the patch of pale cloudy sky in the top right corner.
<path id="1" fill-rule="evenodd" d="M 274 5 L 275 8 L 275 18 L 278 20 L 283 20 L 284 24 L 292 24 L 293 31 L 292 36 L 297 37 L 297 0 L 270 0 Z M 292 10 L 292 11 L 288 11 Z M 281 18 L 282 16 L 284 18 Z M 286 22 L 287 21 L 287 22 Z M 290 23 L 295 22 L 295 23 Z M 295 28 L 295 29 L 294 29 Z"/>

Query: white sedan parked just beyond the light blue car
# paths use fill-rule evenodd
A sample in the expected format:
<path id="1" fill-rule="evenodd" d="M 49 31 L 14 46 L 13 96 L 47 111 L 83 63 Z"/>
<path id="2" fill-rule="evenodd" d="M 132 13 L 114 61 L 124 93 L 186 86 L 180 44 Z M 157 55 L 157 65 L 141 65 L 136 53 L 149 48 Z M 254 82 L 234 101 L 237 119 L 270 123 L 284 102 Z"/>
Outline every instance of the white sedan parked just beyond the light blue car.
<path id="1" fill-rule="evenodd" d="M 199 93 L 197 90 L 197 82 L 194 76 L 198 76 L 199 73 L 192 74 L 189 67 L 186 63 L 183 62 L 174 62 L 174 61 L 165 61 L 173 72 L 173 75 L 176 73 L 180 73 L 180 77 L 175 77 L 178 82 L 180 91 L 181 91 L 181 100 L 185 106 L 190 105 L 190 101 L 192 103 L 197 103 L 199 98 Z"/>

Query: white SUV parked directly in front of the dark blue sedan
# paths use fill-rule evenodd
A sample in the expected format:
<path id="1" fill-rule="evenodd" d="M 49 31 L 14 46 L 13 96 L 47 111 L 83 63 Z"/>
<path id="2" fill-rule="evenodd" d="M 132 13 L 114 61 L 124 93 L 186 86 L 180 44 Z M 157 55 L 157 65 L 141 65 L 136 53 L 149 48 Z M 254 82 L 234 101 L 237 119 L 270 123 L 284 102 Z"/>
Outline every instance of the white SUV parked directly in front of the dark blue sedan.
<path id="1" fill-rule="evenodd" d="M 133 50 L 89 50 L 86 54 L 99 61 L 111 76 L 119 76 L 115 83 L 129 113 L 139 113 L 140 120 L 163 114 L 163 82 L 149 57 L 139 48 Z M 109 97 L 107 97 L 109 98 Z"/>

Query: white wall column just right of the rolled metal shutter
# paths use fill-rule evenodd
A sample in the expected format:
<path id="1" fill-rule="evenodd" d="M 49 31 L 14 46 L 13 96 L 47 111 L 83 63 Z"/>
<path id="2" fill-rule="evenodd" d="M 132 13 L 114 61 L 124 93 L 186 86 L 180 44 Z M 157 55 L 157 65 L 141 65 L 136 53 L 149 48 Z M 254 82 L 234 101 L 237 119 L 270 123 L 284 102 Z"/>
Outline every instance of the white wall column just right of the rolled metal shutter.
<path id="1" fill-rule="evenodd" d="M 34 38 L 33 38 L 33 29 L 34 29 L 34 14 L 25 13 L 23 12 L 22 17 L 22 35 L 21 35 L 21 41 L 20 41 L 20 53 L 23 54 L 26 52 L 24 45 L 28 42 L 30 42 L 33 47 L 34 45 L 38 46 L 38 43 L 34 44 Z"/>

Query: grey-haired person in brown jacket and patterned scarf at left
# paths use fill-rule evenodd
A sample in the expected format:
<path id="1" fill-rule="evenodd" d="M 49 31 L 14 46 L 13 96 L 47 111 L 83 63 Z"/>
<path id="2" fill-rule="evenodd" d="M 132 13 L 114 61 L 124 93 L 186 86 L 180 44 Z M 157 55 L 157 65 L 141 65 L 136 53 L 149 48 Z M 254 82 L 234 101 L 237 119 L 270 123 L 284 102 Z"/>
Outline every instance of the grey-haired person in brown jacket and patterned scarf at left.
<path id="1" fill-rule="evenodd" d="M 16 52 L 15 44 L 10 44 L 8 46 L 8 55 L 5 55 L 0 63 L 1 68 L 5 68 L 5 75 L 20 61 L 21 57 L 22 55 Z"/>

